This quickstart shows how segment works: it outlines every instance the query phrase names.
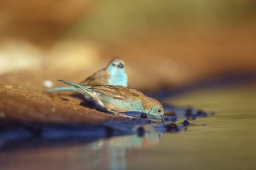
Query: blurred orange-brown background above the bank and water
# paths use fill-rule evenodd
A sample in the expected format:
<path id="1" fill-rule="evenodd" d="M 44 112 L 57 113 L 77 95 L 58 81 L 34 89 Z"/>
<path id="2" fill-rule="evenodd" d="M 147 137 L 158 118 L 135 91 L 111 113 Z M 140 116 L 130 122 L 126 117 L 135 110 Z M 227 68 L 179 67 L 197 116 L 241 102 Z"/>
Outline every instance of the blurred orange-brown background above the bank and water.
<path id="1" fill-rule="evenodd" d="M 129 86 L 256 71 L 256 2 L 0 0 L 0 75 L 79 82 L 113 56 Z"/>

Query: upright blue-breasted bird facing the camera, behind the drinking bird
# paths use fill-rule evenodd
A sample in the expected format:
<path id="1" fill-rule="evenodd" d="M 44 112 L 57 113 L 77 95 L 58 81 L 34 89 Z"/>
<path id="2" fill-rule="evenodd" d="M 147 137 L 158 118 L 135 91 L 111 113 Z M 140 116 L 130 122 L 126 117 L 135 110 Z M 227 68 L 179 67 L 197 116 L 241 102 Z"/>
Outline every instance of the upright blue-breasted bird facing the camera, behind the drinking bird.
<path id="1" fill-rule="evenodd" d="M 127 87 L 128 77 L 125 72 L 125 62 L 124 60 L 117 56 L 108 62 L 108 65 L 96 71 L 90 77 L 84 79 L 80 85 L 120 85 Z M 77 91 L 80 92 L 79 88 L 69 86 L 69 87 L 57 87 L 54 89 L 46 89 L 46 92 L 55 91 Z"/>

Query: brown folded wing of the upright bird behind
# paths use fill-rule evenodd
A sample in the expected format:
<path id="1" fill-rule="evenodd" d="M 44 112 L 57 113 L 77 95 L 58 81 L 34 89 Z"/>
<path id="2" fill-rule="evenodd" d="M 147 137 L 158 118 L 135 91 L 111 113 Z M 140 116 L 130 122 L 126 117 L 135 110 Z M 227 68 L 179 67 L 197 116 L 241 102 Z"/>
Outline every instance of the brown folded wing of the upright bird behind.
<path id="1" fill-rule="evenodd" d="M 108 85 L 108 79 L 109 79 L 108 71 L 106 69 L 101 69 L 100 71 L 97 71 L 84 81 L 82 81 L 81 85 Z"/>

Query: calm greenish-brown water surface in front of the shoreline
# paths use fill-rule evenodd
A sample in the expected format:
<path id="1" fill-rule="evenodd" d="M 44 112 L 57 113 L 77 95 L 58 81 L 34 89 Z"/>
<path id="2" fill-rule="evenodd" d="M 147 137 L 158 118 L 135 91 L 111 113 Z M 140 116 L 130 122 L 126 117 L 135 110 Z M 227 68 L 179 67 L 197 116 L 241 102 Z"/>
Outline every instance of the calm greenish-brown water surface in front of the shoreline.
<path id="1" fill-rule="evenodd" d="M 256 86 L 200 89 L 166 99 L 214 116 L 181 132 L 150 131 L 79 144 L 1 151 L 1 169 L 256 169 Z M 179 118 L 182 122 L 185 118 Z M 200 126 L 205 124 L 205 126 Z"/>

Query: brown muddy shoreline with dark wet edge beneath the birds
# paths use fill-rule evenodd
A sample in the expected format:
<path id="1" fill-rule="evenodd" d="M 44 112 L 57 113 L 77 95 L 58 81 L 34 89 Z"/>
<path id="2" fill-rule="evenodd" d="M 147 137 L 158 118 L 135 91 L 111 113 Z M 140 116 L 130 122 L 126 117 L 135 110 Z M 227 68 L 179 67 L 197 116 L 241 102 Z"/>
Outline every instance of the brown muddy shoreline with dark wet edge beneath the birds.
<path id="1" fill-rule="evenodd" d="M 185 120 L 182 117 L 187 112 L 186 107 L 175 107 L 164 103 L 166 112 L 177 113 L 164 123 L 150 122 L 148 119 L 141 118 L 129 120 L 88 108 L 84 105 L 82 97 L 72 92 L 45 93 L 44 89 L 47 89 L 43 84 L 45 78 L 43 75 L 40 77 L 36 75 L 38 74 L 10 73 L 1 76 L 1 149 L 42 147 L 55 143 L 65 146 L 65 144 L 91 142 L 110 136 L 166 132 L 166 125 L 177 120 L 177 130 L 183 128 L 181 122 Z M 212 78 L 195 85 L 187 85 L 179 89 L 162 89 L 158 92 L 147 93 L 147 95 L 164 101 L 166 98 L 197 89 L 249 82 L 256 82 L 254 73 Z"/>

